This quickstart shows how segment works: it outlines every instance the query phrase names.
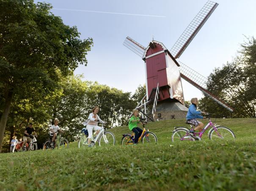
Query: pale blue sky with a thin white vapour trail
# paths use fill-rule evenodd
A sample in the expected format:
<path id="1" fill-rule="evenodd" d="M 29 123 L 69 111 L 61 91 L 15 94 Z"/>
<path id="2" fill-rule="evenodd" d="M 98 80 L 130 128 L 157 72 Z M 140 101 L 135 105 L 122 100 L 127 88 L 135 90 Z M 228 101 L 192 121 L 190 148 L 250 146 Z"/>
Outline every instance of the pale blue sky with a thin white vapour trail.
<path id="1" fill-rule="evenodd" d="M 143 60 L 123 46 L 129 36 L 143 46 L 154 37 L 169 50 L 207 0 L 44 0 L 64 24 L 77 26 L 94 46 L 75 74 L 134 93 L 146 82 Z M 38 1 L 35 1 L 38 2 Z M 238 54 L 247 37 L 256 37 L 256 0 L 216 0 L 218 7 L 179 60 L 207 77 Z M 82 10 L 82 11 L 81 11 Z M 111 13 L 103 13 L 111 12 Z M 113 14 L 122 13 L 122 14 Z M 245 35 L 245 36 L 244 36 Z M 184 100 L 203 97 L 182 80 Z"/>

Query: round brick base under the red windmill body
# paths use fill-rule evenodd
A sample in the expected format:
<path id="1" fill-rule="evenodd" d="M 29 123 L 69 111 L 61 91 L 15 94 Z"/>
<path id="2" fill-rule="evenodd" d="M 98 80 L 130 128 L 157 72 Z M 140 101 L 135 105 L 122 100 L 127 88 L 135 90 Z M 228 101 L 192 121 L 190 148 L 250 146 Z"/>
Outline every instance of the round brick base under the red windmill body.
<path id="1" fill-rule="evenodd" d="M 158 120 L 185 118 L 187 110 L 188 108 L 182 105 L 179 101 L 170 98 L 157 103 L 154 118 Z"/>

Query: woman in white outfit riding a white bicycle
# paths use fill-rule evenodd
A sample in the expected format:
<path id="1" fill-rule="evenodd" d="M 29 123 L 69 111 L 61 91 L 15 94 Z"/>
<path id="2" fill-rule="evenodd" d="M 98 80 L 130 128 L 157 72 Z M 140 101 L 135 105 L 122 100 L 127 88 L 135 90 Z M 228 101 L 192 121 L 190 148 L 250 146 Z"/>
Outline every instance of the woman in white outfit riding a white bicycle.
<path id="1" fill-rule="evenodd" d="M 93 113 L 90 113 L 88 117 L 90 122 L 86 126 L 86 129 L 88 130 L 88 147 L 91 147 L 92 132 L 97 131 L 96 135 L 98 135 L 99 131 L 102 129 L 102 127 L 98 126 L 98 121 L 101 120 L 97 115 L 99 112 L 99 107 L 94 107 L 92 112 Z"/>

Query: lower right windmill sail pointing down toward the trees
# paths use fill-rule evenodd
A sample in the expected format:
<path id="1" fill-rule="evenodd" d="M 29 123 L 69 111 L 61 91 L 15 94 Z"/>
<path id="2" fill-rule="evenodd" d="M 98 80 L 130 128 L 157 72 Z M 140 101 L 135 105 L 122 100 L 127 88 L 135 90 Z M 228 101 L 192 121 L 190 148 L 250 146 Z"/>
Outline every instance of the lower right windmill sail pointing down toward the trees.
<path id="1" fill-rule="evenodd" d="M 179 70 L 180 70 L 180 76 L 195 86 L 197 89 L 204 92 L 204 94 L 208 95 L 212 100 L 217 102 L 218 104 L 222 105 L 224 108 L 230 110 L 231 112 L 234 110 L 231 106 L 220 100 L 217 96 L 212 94 L 210 91 L 206 89 L 206 78 L 197 72 L 195 70 L 191 69 L 190 67 L 184 65 L 182 62 L 179 62 Z"/>

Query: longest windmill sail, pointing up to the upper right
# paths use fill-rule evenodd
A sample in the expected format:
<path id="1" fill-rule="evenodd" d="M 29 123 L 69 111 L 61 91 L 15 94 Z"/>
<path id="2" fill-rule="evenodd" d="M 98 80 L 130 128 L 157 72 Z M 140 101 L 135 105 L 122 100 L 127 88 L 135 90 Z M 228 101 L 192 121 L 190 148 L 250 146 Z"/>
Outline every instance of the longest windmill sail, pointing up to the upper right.
<path id="1" fill-rule="evenodd" d="M 179 58 L 180 55 L 184 52 L 190 42 L 193 40 L 198 31 L 203 27 L 204 23 L 207 21 L 209 16 L 213 13 L 215 8 L 219 4 L 207 1 L 204 7 L 197 13 L 195 18 L 190 22 L 187 28 L 184 30 L 182 35 L 171 48 L 170 52 L 175 59 Z"/>

